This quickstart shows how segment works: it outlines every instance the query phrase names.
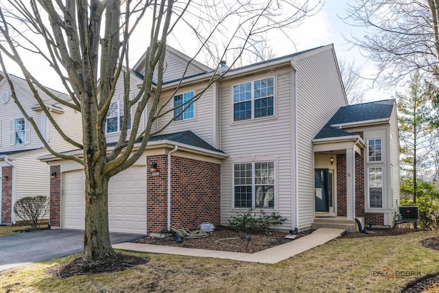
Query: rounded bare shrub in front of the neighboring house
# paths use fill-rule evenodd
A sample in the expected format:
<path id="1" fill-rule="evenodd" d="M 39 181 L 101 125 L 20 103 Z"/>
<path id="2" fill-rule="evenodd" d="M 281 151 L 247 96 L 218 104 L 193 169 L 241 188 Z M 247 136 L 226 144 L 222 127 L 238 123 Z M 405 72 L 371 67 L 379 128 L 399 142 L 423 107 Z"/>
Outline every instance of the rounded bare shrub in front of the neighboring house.
<path id="1" fill-rule="evenodd" d="M 32 229 L 38 228 L 38 221 L 42 220 L 49 211 L 49 200 L 46 196 L 32 196 L 17 200 L 14 213 L 27 222 Z"/>

